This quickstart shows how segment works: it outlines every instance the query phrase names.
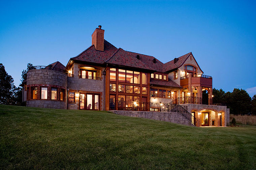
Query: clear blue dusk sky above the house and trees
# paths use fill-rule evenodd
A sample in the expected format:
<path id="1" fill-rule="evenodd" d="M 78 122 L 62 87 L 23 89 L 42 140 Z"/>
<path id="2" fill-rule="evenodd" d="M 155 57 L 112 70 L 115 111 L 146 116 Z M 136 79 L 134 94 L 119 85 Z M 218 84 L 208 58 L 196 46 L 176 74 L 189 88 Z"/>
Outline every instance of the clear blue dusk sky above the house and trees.
<path id="1" fill-rule="evenodd" d="M 192 52 L 213 87 L 256 94 L 256 1 L 0 1 L 0 63 L 18 86 L 27 63 L 66 66 L 98 25 L 124 50 L 163 63 Z"/>

